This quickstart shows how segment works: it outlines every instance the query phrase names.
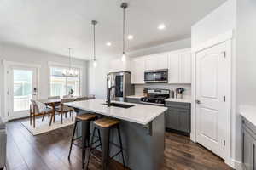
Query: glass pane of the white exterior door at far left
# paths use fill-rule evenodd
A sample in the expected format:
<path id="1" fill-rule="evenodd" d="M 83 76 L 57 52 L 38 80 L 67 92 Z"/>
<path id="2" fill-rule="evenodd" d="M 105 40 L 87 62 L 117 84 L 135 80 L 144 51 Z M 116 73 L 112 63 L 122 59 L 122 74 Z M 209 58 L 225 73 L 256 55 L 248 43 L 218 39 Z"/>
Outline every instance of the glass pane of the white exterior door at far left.
<path id="1" fill-rule="evenodd" d="M 14 111 L 26 111 L 32 99 L 32 71 L 14 70 Z"/>

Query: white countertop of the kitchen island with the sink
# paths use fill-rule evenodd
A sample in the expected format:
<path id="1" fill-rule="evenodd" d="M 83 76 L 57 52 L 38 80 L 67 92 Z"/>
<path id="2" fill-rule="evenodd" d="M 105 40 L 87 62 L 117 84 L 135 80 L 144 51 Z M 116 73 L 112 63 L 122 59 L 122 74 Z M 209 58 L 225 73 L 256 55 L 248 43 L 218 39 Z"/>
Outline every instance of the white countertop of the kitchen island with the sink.
<path id="1" fill-rule="evenodd" d="M 114 101 L 114 103 L 134 105 L 131 108 L 125 109 L 120 107 L 108 107 L 108 105 L 102 105 L 105 103 L 106 100 L 104 99 L 89 99 L 84 101 L 75 101 L 67 103 L 65 105 L 84 111 L 95 112 L 104 116 L 114 117 L 128 122 L 136 122 L 142 125 L 147 125 L 148 122 L 153 121 L 155 117 L 160 116 L 163 112 L 167 110 L 167 108 L 163 106 L 131 104 L 127 102 Z"/>

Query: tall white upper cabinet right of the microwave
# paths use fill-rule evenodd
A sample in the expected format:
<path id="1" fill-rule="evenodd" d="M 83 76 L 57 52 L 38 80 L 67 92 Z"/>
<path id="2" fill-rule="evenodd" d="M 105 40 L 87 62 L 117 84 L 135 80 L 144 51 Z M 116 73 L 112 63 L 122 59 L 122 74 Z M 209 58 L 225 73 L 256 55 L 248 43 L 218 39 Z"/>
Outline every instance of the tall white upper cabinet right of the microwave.
<path id="1" fill-rule="evenodd" d="M 169 54 L 169 83 L 191 83 L 190 49 Z"/>

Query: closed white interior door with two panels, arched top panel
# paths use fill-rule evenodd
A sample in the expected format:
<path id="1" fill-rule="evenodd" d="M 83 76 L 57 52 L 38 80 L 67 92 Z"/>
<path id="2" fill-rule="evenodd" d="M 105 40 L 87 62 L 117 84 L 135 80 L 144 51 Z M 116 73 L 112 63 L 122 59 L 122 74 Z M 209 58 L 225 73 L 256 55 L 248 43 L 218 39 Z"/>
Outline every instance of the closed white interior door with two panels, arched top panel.
<path id="1" fill-rule="evenodd" d="M 225 158 L 229 105 L 229 63 L 226 43 L 196 54 L 196 140 Z"/>

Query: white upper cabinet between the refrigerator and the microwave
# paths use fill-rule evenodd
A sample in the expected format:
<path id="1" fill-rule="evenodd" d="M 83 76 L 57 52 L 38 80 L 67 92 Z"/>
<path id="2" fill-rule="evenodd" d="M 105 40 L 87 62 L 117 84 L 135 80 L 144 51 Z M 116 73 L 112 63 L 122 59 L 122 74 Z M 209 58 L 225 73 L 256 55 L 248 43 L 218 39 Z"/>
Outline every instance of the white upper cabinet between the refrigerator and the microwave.
<path id="1" fill-rule="evenodd" d="M 139 57 L 131 59 L 131 83 L 143 84 L 145 71 L 145 58 Z"/>

